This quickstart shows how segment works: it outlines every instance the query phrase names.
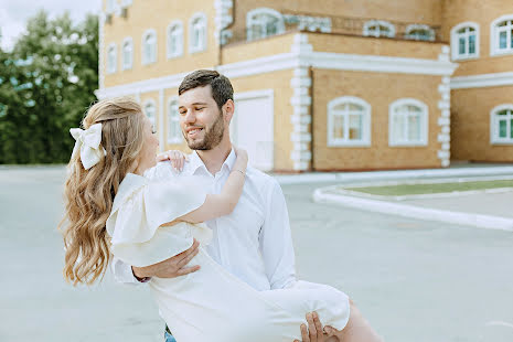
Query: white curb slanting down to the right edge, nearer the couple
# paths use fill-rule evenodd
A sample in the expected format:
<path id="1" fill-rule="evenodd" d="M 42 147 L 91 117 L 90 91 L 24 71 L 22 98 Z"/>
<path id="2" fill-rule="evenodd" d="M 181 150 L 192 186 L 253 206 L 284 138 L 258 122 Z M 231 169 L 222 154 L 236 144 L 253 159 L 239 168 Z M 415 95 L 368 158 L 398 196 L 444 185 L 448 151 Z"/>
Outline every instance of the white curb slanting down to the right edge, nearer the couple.
<path id="1" fill-rule="evenodd" d="M 513 232 L 513 218 L 482 214 L 469 214 L 462 212 L 450 212 L 437 209 L 419 207 L 410 204 L 399 204 L 378 200 L 331 194 L 325 193 L 327 189 L 329 188 L 317 189 L 312 195 L 313 201 L 317 203 L 332 203 L 348 207 L 354 207 L 357 210 L 371 211 L 382 214 L 392 214 L 409 218 L 419 218 L 487 229 Z"/>

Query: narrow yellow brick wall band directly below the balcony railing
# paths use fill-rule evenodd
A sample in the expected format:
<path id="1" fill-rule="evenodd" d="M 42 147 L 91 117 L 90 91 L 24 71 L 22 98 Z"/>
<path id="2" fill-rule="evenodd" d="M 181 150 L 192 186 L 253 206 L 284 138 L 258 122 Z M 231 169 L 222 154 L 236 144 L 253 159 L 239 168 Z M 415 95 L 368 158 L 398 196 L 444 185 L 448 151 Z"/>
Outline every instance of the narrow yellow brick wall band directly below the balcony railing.
<path id="1" fill-rule="evenodd" d="M 308 33 L 313 51 L 438 60 L 441 43 Z"/>

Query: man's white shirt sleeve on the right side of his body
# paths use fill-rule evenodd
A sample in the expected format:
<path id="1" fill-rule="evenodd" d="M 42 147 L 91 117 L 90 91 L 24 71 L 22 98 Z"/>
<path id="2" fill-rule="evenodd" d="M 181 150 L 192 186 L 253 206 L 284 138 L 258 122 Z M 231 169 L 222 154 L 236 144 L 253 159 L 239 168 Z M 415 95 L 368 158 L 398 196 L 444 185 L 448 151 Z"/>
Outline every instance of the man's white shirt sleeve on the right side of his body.
<path id="1" fill-rule="evenodd" d="M 260 253 L 271 289 L 284 289 L 296 281 L 295 254 L 285 196 L 271 179 L 266 200 L 266 217 L 260 229 Z"/>

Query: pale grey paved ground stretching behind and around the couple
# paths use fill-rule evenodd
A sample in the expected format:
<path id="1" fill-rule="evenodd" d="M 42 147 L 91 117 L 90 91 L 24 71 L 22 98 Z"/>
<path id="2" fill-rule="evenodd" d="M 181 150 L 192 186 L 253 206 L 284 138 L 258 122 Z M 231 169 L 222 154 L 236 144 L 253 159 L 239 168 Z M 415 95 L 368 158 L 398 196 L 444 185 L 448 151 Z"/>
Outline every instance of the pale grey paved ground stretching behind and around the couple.
<path id="1" fill-rule="evenodd" d="M 0 170 L 0 341 L 163 342 L 145 286 L 63 281 L 64 175 Z M 386 341 L 513 341 L 513 234 L 318 204 L 318 186 L 282 186 L 302 279 L 346 291 Z"/>

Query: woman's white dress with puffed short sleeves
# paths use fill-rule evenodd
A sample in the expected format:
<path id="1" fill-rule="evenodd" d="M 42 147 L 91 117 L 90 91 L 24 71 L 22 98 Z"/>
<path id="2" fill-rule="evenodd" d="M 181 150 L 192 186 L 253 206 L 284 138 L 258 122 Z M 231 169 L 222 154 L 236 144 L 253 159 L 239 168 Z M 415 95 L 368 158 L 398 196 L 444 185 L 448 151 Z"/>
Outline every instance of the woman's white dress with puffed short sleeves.
<path id="1" fill-rule="evenodd" d="M 174 256 L 195 237 L 207 245 L 212 231 L 204 224 L 161 226 L 205 201 L 204 188 L 192 179 L 150 181 L 132 173 L 121 182 L 107 221 L 111 252 L 122 261 L 142 267 Z M 239 280 L 200 246 L 191 265 L 199 271 L 149 281 L 160 312 L 179 342 L 292 342 L 301 340 L 300 324 L 317 311 L 324 325 L 343 329 L 349 298 L 325 285 L 298 281 L 290 288 L 257 291 Z"/>

